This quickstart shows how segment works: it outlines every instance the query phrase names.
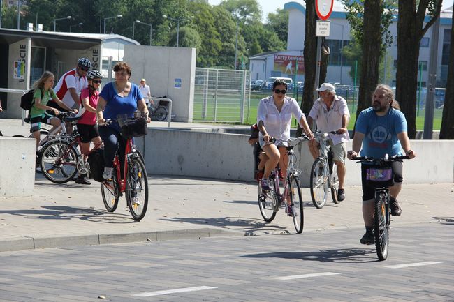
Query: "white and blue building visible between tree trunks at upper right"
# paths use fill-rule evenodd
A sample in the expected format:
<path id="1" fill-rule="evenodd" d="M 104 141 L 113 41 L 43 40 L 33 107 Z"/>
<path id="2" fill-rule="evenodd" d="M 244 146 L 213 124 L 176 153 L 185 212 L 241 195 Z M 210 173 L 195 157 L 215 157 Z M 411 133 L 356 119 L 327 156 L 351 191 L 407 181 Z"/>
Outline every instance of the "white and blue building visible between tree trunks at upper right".
<path id="1" fill-rule="evenodd" d="M 302 1 L 301 1 L 302 2 Z M 268 77 L 295 77 L 295 64 L 293 70 L 289 72 L 288 68 L 284 68 L 295 58 L 291 56 L 302 56 L 305 41 L 305 14 L 306 9 L 303 4 L 298 2 L 288 2 L 284 5 L 284 9 L 288 10 L 288 39 L 287 50 L 284 52 L 272 52 L 256 54 L 251 56 L 250 67 L 251 79 L 265 80 Z M 437 86 L 445 87 L 448 77 L 448 61 L 449 61 L 449 45 L 451 43 L 451 26 L 452 26 L 452 10 L 453 6 L 444 6 L 440 17 L 439 29 L 439 47 L 438 47 L 438 62 L 437 62 Z M 386 63 L 381 70 L 381 81 L 395 86 L 395 64 L 397 62 L 397 15 L 393 19 L 389 30 L 393 36 L 393 45 L 388 47 L 386 52 Z M 342 45 L 348 45 L 351 40 L 350 24 L 346 20 L 346 11 L 344 6 L 339 1 L 335 1 L 332 14 L 328 19 L 330 21 L 330 36 L 326 37 L 327 44 L 330 46 L 330 59 L 328 62 L 328 73 L 326 82 L 339 82 L 341 84 L 353 85 L 353 80 L 349 71 L 354 62 L 346 61 L 342 55 Z M 419 61 L 422 66 L 422 85 L 426 86 L 427 68 L 430 59 L 430 38 L 432 37 L 433 27 L 431 27 L 420 43 Z M 279 55 L 291 55 L 286 57 L 287 60 L 282 60 Z M 316 56 L 316 54 L 314 54 Z M 302 59 L 302 58 L 300 58 Z M 283 67 L 284 66 L 284 67 Z M 298 68 L 300 69 L 300 67 Z M 302 70 L 301 70 L 302 71 Z M 304 75 L 298 73 L 297 80 L 304 80 Z M 358 84 L 359 80 L 356 80 Z"/>

